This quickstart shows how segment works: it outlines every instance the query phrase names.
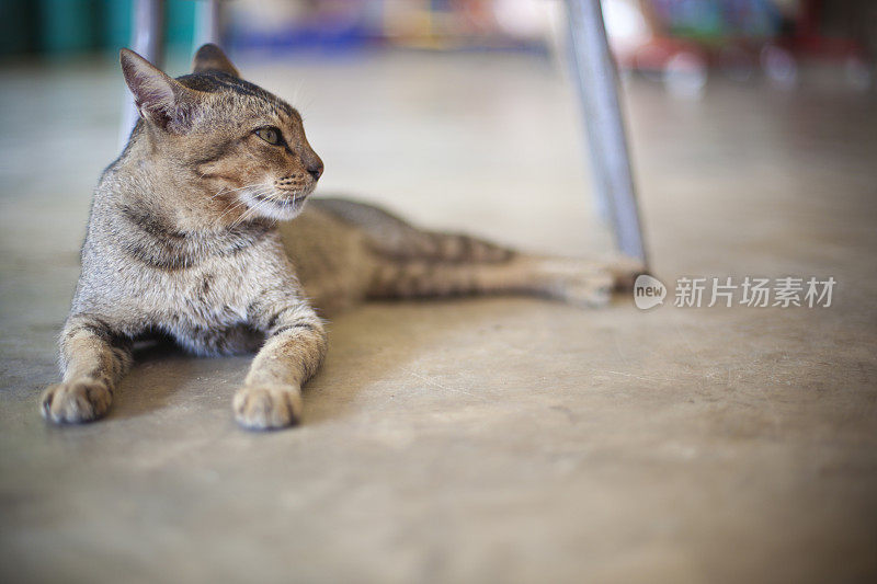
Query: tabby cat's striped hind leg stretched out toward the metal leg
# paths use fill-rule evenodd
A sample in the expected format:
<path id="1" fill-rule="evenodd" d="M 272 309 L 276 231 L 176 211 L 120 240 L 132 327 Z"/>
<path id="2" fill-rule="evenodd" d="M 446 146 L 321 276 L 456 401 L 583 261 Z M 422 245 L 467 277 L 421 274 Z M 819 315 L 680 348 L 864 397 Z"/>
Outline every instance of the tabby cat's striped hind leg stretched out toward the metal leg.
<path id="1" fill-rule="evenodd" d="M 592 307 L 605 305 L 613 289 L 633 286 L 643 272 L 630 260 L 528 255 L 464 233 L 419 229 L 362 203 L 328 198 L 315 204 L 365 236 L 375 259 L 369 298 L 519 294 Z"/>

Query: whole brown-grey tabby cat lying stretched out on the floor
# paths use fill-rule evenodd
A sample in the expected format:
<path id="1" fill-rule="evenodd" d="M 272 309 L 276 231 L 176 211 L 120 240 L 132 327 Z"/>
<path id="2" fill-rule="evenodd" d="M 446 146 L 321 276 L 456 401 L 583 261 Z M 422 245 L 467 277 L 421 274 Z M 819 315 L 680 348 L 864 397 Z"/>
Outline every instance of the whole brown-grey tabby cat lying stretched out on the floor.
<path id="1" fill-rule="evenodd" d="M 295 108 L 241 80 L 215 45 L 176 79 L 127 49 L 121 61 L 140 119 L 94 193 L 47 420 L 103 416 L 132 343 L 163 335 L 197 355 L 258 351 L 235 416 L 288 426 L 326 355 L 315 309 L 493 293 L 601 305 L 634 272 L 424 231 L 344 199 L 305 210 L 323 164 Z"/>

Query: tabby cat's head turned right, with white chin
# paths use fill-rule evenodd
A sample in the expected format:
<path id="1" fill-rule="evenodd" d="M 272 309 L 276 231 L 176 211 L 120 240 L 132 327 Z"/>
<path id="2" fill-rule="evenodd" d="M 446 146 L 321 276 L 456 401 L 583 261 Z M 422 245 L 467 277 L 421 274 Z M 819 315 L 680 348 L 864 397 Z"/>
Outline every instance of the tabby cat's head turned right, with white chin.
<path id="1" fill-rule="evenodd" d="M 201 47 L 194 72 L 176 79 L 128 49 L 121 61 L 143 118 L 133 139 L 149 140 L 169 172 L 194 187 L 198 199 L 186 205 L 225 225 L 300 213 L 323 165 L 294 107 L 241 80 L 216 45 Z"/>

